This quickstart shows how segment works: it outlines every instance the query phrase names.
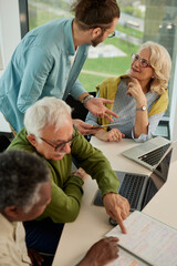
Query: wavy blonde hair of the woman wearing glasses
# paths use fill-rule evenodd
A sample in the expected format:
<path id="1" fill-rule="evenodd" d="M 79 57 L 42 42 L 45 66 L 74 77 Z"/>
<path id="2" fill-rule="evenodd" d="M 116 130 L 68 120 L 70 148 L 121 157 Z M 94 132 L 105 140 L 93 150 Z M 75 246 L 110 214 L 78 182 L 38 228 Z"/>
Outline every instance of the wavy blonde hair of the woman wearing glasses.
<path id="1" fill-rule="evenodd" d="M 167 50 L 155 42 L 147 41 L 142 44 L 138 52 L 144 49 L 150 50 L 149 64 L 154 69 L 154 78 L 150 82 L 150 91 L 163 94 L 167 89 L 170 76 L 171 60 Z"/>

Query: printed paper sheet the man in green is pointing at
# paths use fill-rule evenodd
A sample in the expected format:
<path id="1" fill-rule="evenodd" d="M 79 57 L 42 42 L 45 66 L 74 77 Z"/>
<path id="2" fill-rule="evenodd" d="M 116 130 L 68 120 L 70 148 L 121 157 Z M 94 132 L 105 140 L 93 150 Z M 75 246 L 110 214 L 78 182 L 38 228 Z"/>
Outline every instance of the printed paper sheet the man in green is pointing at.
<path id="1" fill-rule="evenodd" d="M 126 235 L 116 226 L 106 236 L 118 237 L 119 246 L 154 266 L 177 266 L 176 229 L 137 211 L 125 221 L 125 226 Z"/>

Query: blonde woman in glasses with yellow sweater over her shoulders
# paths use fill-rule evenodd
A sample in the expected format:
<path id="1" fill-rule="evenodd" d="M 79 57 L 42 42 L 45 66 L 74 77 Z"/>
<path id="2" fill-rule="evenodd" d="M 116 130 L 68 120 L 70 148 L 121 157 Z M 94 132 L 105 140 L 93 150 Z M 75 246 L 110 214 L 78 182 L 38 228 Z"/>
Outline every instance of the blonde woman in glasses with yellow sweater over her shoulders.
<path id="1" fill-rule="evenodd" d="M 171 68 L 167 50 L 155 43 L 144 43 L 137 54 L 132 54 L 128 75 L 108 78 L 97 85 L 97 96 L 114 100 L 107 106 L 119 115 L 117 125 L 101 129 L 95 136 L 103 141 L 121 141 L 123 136 L 137 142 L 149 140 L 168 106 Z M 88 113 L 86 123 L 110 124 L 104 117 Z"/>

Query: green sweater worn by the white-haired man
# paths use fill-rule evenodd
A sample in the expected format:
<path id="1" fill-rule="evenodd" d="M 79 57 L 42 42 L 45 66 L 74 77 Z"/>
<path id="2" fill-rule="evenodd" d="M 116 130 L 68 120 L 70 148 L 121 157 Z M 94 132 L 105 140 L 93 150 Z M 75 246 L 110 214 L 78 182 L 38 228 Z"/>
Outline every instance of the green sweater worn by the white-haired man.
<path id="1" fill-rule="evenodd" d="M 75 133 L 74 133 L 75 134 Z M 27 140 L 25 129 L 11 142 L 8 150 L 24 150 L 40 155 L 33 145 Z M 43 214 L 38 219 L 51 217 L 54 223 L 73 222 L 80 212 L 81 198 L 83 195 L 83 181 L 71 174 L 72 156 L 81 167 L 96 180 L 102 195 L 108 192 L 117 193 L 119 182 L 112 170 L 110 162 L 101 151 L 94 149 L 85 137 L 80 134 L 71 145 L 71 153 L 64 155 L 60 161 L 46 160 L 51 182 L 52 200 Z"/>

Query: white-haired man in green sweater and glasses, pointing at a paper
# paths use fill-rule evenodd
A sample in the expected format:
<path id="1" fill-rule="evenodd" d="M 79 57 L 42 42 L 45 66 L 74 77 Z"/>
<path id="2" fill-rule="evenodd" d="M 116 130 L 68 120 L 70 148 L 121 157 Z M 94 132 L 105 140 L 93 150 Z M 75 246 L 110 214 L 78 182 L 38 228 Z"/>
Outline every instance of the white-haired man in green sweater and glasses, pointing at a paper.
<path id="1" fill-rule="evenodd" d="M 71 174 L 72 156 L 96 180 L 107 214 L 126 233 L 123 219 L 128 215 L 129 204 L 117 194 L 117 176 L 102 152 L 73 127 L 71 108 L 62 100 L 43 98 L 27 110 L 24 125 L 9 149 L 25 150 L 43 157 L 52 181 L 51 203 L 38 221 L 24 223 L 27 246 L 54 254 L 63 224 L 76 218 L 84 178 L 77 172 Z"/>

